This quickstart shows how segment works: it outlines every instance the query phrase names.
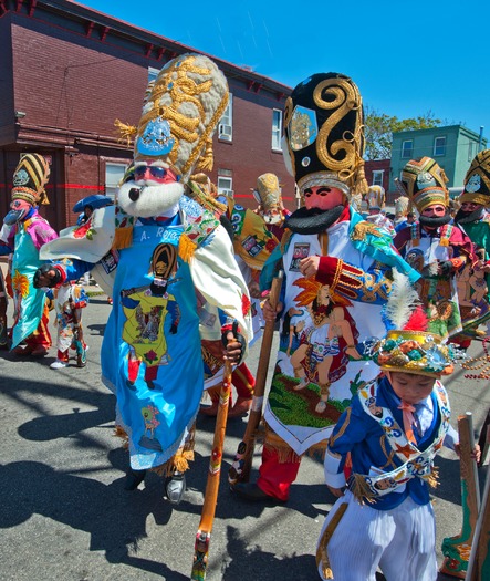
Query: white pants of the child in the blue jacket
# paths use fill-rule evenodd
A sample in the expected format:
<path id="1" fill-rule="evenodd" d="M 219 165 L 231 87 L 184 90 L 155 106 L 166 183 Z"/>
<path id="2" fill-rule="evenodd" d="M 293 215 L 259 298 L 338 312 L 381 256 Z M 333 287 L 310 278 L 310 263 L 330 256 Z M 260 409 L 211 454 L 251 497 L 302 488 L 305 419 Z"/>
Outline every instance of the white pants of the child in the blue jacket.
<path id="1" fill-rule="evenodd" d="M 430 504 L 420 506 L 407 498 L 392 510 L 376 510 L 359 505 L 347 491 L 325 518 L 322 535 L 343 502 L 348 507 L 326 548 L 335 581 L 375 581 L 378 567 L 386 581 L 437 579 L 436 521 Z M 323 579 L 321 564 L 319 573 Z"/>

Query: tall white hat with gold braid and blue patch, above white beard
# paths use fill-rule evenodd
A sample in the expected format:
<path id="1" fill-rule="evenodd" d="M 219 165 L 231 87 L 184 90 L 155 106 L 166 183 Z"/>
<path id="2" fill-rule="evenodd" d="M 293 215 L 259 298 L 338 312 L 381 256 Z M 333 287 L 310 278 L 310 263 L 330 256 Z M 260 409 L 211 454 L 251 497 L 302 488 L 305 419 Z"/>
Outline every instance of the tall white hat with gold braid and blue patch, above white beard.
<path id="1" fill-rule="evenodd" d="M 134 160 L 158 159 L 187 181 L 194 169 L 212 169 L 212 134 L 228 104 L 228 83 L 201 54 L 169 61 L 148 84 L 137 128 L 116 121 L 123 137 L 134 136 Z"/>

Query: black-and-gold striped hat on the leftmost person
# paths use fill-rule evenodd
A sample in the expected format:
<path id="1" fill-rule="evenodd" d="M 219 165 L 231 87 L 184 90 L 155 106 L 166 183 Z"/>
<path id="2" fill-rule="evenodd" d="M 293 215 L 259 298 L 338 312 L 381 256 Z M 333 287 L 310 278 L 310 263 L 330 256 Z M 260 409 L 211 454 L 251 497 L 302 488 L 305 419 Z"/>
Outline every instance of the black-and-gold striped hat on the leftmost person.
<path id="1" fill-rule="evenodd" d="M 12 200 L 23 199 L 32 206 L 49 204 L 44 189 L 49 179 L 50 166 L 42 155 L 23 155 L 13 173 Z"/>

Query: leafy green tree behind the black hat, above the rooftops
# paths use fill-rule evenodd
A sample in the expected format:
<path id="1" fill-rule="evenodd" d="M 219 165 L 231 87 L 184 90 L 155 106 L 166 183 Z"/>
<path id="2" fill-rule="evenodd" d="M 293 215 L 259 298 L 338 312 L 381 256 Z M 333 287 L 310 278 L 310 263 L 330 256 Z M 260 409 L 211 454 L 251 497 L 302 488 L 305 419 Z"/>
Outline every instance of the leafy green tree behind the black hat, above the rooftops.
<path id="1" fill-rule="evenodd" d="M 430 129 L 439 127 L 441 121 L 434 116 L 431 111 L 415 118 L 398 120 L 385 113 L 365 107 L 365 139 L 364 157 L 368 160 L 389 159 L 392 157 L 393 133 L 399 131 Z"/>

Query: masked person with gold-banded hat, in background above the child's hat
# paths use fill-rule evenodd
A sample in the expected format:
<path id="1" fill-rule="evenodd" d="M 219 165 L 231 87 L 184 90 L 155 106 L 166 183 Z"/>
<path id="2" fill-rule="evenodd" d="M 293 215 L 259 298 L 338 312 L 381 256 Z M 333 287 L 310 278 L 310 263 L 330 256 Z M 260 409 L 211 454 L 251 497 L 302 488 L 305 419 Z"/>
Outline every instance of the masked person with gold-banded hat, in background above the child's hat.
<path id="1" fill-rule="evenodd" d="M 394 239 L 407 262 L 421 273 L 417 290 L 428 330 L 445 341 L 462 330 L 456 276 L 475 260 L 470 239 L 451 224 L 447 181 L 444 169 L 430 157 L 407 163 L 400 183 L 420 216 Z"/>

